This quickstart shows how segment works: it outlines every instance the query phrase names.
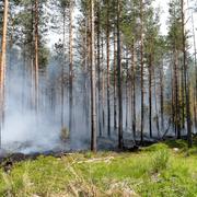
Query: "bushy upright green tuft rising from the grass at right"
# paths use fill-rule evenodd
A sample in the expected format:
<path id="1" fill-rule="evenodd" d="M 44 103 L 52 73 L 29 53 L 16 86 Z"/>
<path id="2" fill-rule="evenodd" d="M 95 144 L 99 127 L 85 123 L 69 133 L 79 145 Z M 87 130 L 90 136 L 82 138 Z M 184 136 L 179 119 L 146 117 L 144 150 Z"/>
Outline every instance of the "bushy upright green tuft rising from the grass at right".
<path id="1" fill-rule="evenodd" d="M 170 158 L 169 150 L 162 149 L 157 151 L 153 155 L 151 163 L 152 172 L 158 173 L 162 170 L 165 170 L 167 167 L 169 158 Z"/>

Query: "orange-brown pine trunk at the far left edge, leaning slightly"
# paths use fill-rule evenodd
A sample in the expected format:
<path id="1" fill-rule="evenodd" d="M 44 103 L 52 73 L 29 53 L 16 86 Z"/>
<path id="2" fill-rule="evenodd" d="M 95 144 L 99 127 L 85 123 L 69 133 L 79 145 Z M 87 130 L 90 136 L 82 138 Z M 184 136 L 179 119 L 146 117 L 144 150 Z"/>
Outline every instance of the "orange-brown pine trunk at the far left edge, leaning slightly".
<path id="1" fill-rule="evenodd" d="M 1 54 L 0 54 L 0 148 L 1 148 L 1 131 L 4 121 L 4 78 L 5 78 L 5 56 L 7 56 L 8 10 L 9 10 L 9 1 L 4 0 L 3 27 L 2 27 Z"/>

